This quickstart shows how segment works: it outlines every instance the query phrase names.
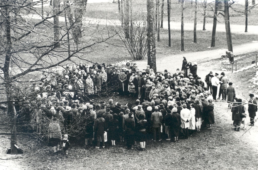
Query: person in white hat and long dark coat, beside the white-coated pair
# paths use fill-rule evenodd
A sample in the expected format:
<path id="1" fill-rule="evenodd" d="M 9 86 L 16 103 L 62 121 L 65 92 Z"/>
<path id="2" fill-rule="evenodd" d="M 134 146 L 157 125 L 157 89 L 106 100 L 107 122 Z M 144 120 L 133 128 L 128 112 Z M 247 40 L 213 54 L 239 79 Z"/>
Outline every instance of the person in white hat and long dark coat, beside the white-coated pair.
<path id="1" fill-rule="evenodd" d="M 178 141 L 180 125 L 181 117 L 180 114 L 177 113 L 177 108 L 174 107 L 172 109 L 171 124 L 169 124 L 171 137 L 174 137 L 174 141 Z"/>

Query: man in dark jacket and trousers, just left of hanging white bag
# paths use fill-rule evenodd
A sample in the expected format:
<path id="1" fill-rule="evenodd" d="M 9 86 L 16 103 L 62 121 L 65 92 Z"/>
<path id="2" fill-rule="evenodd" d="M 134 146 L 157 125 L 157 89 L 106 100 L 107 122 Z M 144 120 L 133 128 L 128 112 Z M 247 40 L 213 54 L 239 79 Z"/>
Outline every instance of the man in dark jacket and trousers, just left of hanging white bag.
<path id="1" fill-rule="evenodd" d="M 102 142 L 102 147 L 105 147 L 105 142 L 104 142 L 104 124 L 105 124 L 105 119 L 101 116 L 101 114 L 97 114 L 97 119 L 95 120 L 94 123 L 94 133 L 96 135 L 97 139 L 97 146 L 96 148 L 99 148 L 100 146 L 100 138 Z"/>

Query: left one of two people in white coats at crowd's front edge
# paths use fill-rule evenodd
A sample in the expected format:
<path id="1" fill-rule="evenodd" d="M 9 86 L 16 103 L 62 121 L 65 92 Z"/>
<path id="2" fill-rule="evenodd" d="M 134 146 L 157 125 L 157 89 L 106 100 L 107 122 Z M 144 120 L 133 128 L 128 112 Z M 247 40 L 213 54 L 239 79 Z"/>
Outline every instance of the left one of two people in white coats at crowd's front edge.
<path id="1" fill-rule="evenodd" d="M 184 133 L 184 139 L 188 139 L 188 128 L 189 128 L 189 120 L 191 118 L 191 112 L 187 109 L 187 105 L 184 103 L 182 105 L 183 109 L 180 112 L 181 116 L 181 126 Z"/>

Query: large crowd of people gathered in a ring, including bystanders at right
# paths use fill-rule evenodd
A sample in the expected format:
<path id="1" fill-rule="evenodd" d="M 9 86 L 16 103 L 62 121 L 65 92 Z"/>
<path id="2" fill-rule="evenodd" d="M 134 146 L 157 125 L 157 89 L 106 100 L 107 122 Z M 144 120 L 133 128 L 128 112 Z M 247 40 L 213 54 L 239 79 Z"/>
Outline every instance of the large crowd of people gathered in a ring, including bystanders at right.
<path id="1" fill-rule="evenodd" d="M 131 149 L 140 142 L 140 150 L 144 150 L 148 140 L 178 142 L 179 137 L 188 139 L 201 129 L 212 130 L 219 84 L 219 98 L 229 102 L 235 130 L 239 131 L 247 109 L 254 124 L 257 106 L 250 104 L 257 104 L 254 96 L 250 95 L 245 109 L 225 73 L 213 75 L 211 71 L 205 82 L 206 87 L 197 75 L 197 63 L 187 62 L 185 57 L 181 70 L 175 73 L 155 73 L 149 65 L 139 70 L 136 63 L 129 62 L 90 67 L 80 62 L 67 64 L 62 72 L 44 72 L 41 82 L 33 84 L 36 99 L 31 105 L 37 106 L 33 112 L 38 133 L 50 134 L 54 152 L 62 140 L 66 154 L 68 137 L 80 138 L 96 148 L 125 140 Z M 130 95 L 136 100 L 123 104 L 111 98 L 88 97 L 102 93 Z"/>

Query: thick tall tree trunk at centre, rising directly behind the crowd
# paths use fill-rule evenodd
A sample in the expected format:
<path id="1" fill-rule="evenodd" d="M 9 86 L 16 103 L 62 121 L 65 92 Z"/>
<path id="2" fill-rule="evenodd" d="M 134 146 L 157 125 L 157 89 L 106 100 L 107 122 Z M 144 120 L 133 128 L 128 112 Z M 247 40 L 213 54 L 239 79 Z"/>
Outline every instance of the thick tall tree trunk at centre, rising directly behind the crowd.
<path id="1" fill-rule="evenodd" d="M 154 0 L 147 0 L 147 36 L 148 36 L 148 65 L 156 73 L 156 48 L 155 48 L 155 4 Z"/>

